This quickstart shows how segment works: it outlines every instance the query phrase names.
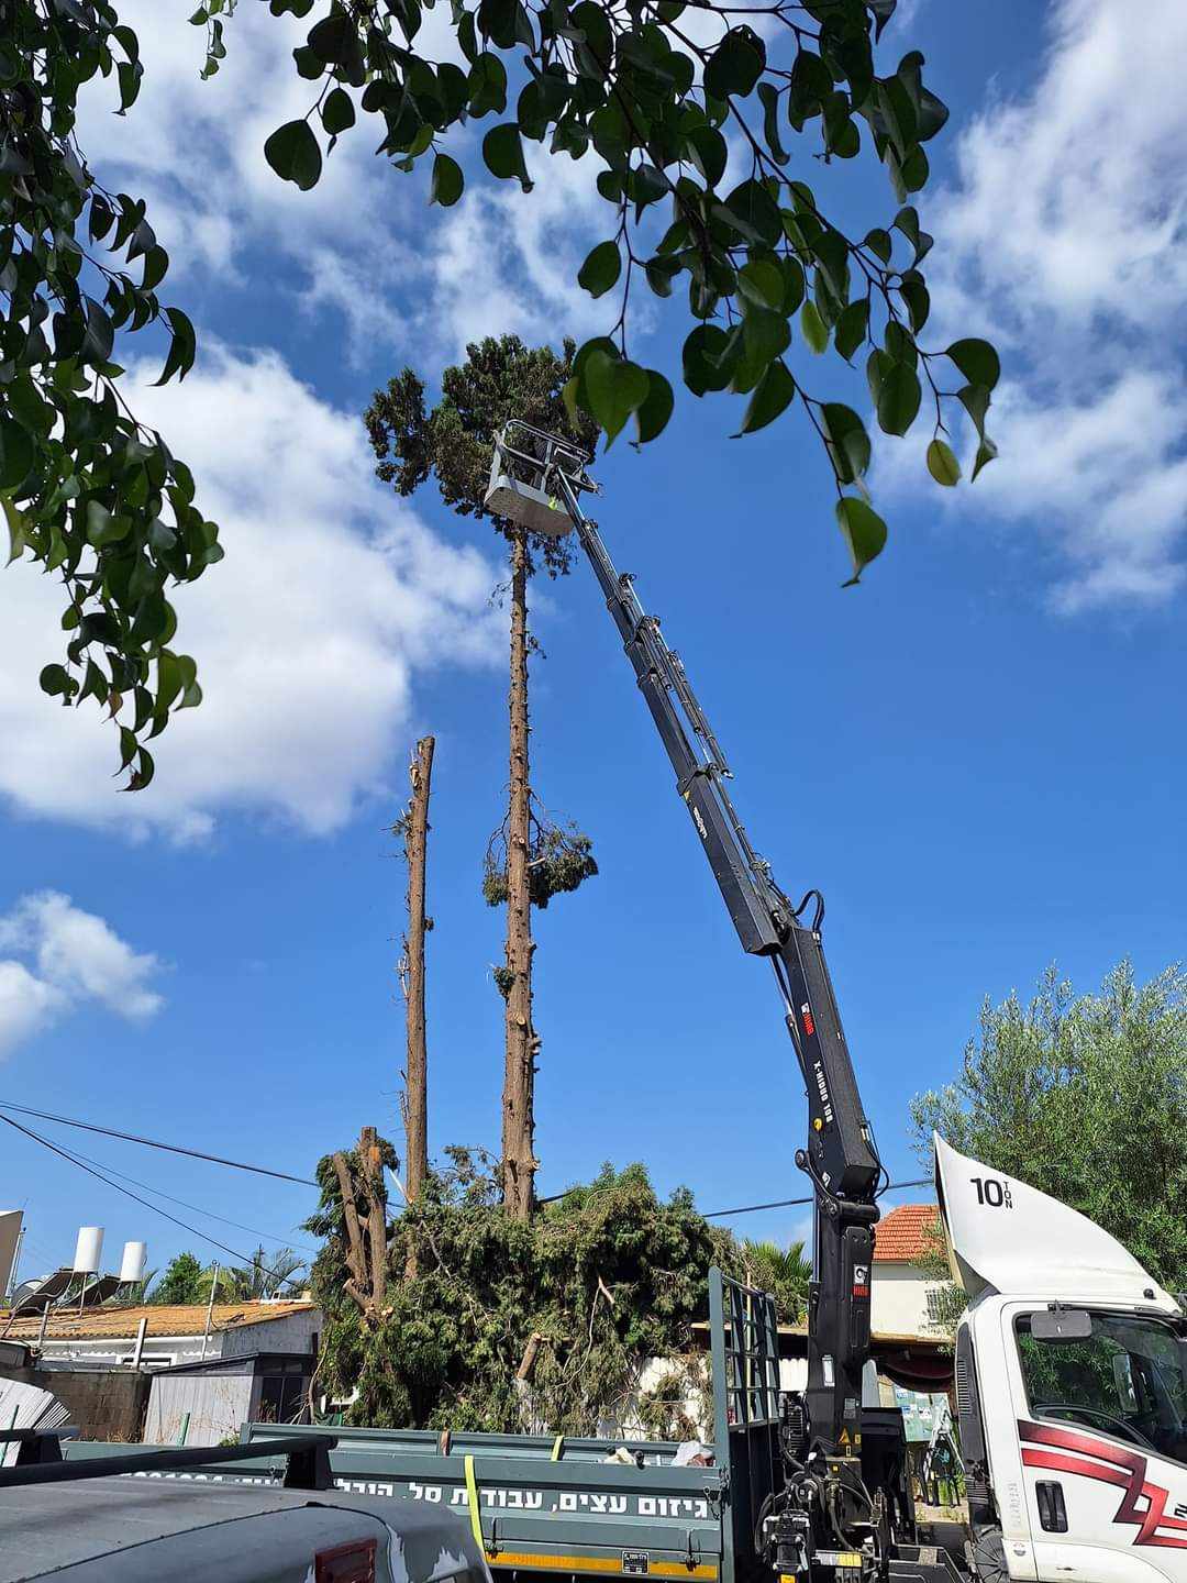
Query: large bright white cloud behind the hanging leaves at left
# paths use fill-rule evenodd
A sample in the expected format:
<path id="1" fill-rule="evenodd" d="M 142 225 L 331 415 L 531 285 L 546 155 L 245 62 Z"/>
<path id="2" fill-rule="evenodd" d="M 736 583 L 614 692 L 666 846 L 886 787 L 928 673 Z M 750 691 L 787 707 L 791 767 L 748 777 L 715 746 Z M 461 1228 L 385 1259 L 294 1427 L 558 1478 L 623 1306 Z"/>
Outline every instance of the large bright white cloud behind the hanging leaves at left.
<path id="1" fill-rule="evenodd" d="M 177 386 L 130 372 L 138 415 L 199 480 L 226 559 L 173 595 L 177 647 L 204 701 L 173 720 L 157 779 L 117 795 L 114 735 L 93 706 L 60 709 L 36 674 L 62 646 L 60 590 L 32 565 L 5 575 L 0 793 L 27 814 L 179 839 L 231 809 L 309 833 L 340 826 L 386 779 L 408 725 L 413 670 L 497 651 L 497 573 L 432 533 L 374 480 L 358 418 L 302 385 L 279 355 L 204 344 Z"/>

